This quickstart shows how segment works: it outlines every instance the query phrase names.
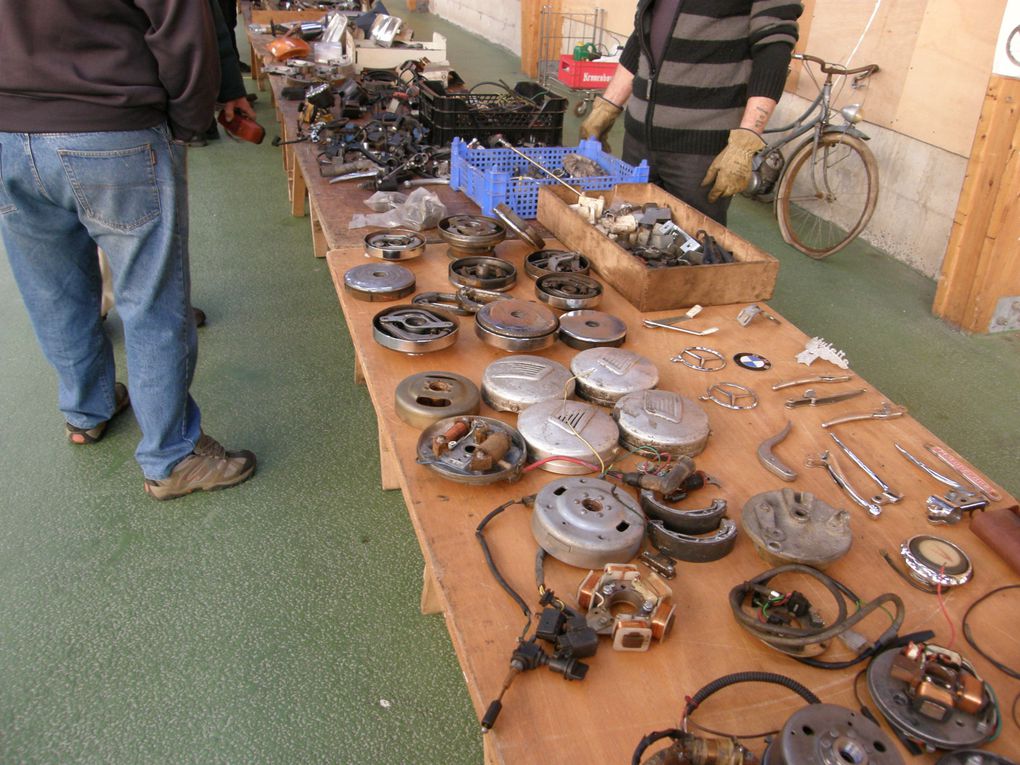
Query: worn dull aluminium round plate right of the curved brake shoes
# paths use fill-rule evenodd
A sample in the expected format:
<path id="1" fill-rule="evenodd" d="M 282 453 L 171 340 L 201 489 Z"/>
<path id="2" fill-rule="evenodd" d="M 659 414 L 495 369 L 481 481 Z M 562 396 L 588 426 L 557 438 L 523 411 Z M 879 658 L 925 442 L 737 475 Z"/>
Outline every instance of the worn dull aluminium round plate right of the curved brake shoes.
<path id="1" fill-rule="evenodd" d="M 825 568 L 846 555 L 854 541 L 850 513 L 793 489 L 756 494 L 744 506 L 741 524 L 758 555 L 774 566 Z"/>

